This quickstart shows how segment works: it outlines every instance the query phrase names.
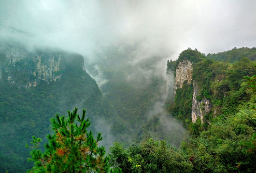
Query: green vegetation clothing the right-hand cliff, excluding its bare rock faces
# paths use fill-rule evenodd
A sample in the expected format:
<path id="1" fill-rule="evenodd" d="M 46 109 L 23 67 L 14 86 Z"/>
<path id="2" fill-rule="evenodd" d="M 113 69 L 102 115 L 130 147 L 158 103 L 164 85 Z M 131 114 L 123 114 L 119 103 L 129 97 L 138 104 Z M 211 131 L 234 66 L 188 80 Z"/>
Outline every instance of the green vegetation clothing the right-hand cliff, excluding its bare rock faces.
<path id="1" fill-rule="evenodd" d="M 249 54 L 253 54 L 255 51 L 254 48 L 249 50 L 251 50 Z M 177 61 L 182 61 L 184 54 L 186 57 L 190 57 L 190 52 L 192 52 L 191 49 L 183 51 Z M 204 118 L 209 122 L 210 119 L 221 113 L 236 113 L 239 109 L 238 105 L 249 101 L 251 96 L 250 93 L 246 93 L 248 86 L 242 85 L 242 83 L 245 81 L 244 76 L 253 76 L 255 74 L 254 66 L 256 62 L 247 57 L 242 57 L 234 63 L 213 61 L 196 49 L 193 50 L 191 56 L 195 57 L 195 52 L 199 54 L 200 61 L 197 59 L 196 62 L 193 62 L 191 58 L 188 59 L 193 62 L 192 80 L 199 86 L 199 94 L 196 98 L 198 101 L 204 98 L 209 99 L 213 103 L 213 111 L 205 115 Z M 168 70 L 170 69 L 171 67 L 168 68 Z M 193 97 L 193 89 L 191 87 L 193 88 L 193 86 L 184 83 L 184 88 L 177 89 L 174 102 L 169 106 L 169 111 L 172 115 L 176 116 L 186 126 L 189 126 L 187 122 L 191 122 L 191 102 Z M 183 116 L 180 116 L 181 114 Z M 191 128 L 192 126 L 194 126 L 194 129 L 196 128 L 193 124 L 190 124 L 190 126 Z"/>

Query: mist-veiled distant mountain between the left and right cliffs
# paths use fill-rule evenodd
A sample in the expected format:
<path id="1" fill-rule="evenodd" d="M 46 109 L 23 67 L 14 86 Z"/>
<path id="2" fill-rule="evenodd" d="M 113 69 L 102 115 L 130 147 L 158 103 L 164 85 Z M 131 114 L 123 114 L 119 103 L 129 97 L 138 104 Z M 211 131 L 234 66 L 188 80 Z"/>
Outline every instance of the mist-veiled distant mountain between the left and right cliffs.
<path id="1" fill-rule="evenodd" d="M 187 133 L 166 111 L 166 100 L 173 99 L 174 75 L 160 64 L 163 57 L 143 57 L 138 47 L 119 45 L 101 49 L 95 58 L 99 61 L 87 68 L 125 122 L 119 138 L 125 146 L 145 136 L 180 146 Z"/>

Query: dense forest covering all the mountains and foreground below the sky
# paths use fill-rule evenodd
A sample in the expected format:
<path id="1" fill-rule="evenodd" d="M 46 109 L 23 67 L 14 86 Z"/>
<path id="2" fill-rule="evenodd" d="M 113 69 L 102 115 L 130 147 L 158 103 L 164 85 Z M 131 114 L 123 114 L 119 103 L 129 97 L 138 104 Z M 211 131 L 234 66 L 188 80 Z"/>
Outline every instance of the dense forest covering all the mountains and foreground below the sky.
<path id="1" fill-rule="evenodd" d="M 185 80 L 173 96 L 173 89 L 161 91 L 162 77 L 133 76 L 137 69 L 124 61 L 133 48 L 107 49 L 101 62 L 87 66 L 92 75 L 98 73 L 95 65 L 101 69 L 107 82 L 99 88 L 81 55 L 1 44 L 1 173 L 26 172 L 33 162 L 31 172 L 256 171 L 256 48 L 207 56 L 184 50 L 176 61 L 168 60 L 166 73 L 177 79 L 177 69 L 189 61 L 191 82 Z M 156 61 L 151 57 L 140 67 L 154 70 Z M 163 93 L 168 97 L 161 99 Z M 152 108 L 156 100 L 163 112 Z M 193 123 L 196 104 L 201 115 Z M 67 115 L 75 106 L 78 111 Z M 56 113 L 66 116 L 53 118 Z M 183 127 L 169 129 L 163 117 Z M 102 132 L 103 139 L 90 130 Z M 98 147 L 99 141 L 110 148 Z M 30 142 L 32 148 L 25 148 Z"/>

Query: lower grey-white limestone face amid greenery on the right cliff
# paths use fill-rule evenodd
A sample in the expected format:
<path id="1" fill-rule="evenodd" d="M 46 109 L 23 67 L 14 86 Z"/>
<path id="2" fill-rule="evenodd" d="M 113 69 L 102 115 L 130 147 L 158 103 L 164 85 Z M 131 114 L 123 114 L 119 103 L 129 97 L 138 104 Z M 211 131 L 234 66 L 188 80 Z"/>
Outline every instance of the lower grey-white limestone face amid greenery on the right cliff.
<path id="1" fill-rule="evenodd" d="M 191 118 L 192 122 L 196 123 L 196 120 L 198 118 L 201 119 L 201 123 L 204 122 L 204 115 L 209 113 L 211 109 L 213 108 L 212 101 L 209 99 L 202 99 L 197 100 L 196 97 L 198 96 L 199 87 L 197 86 L 196 82 L 193 82 L 193 101 L 192 101 L 192 112 L 191 112 Z"/>

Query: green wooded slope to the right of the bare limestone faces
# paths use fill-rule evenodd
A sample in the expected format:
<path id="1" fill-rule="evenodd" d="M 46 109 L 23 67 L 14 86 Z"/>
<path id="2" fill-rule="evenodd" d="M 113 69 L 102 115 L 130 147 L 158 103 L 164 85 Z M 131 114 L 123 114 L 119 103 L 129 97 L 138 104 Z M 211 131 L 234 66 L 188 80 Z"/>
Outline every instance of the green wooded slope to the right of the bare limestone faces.
<path id="1" fill-rule="evenodd" d="M 237 106 L 250 98 L 251 94 L 246 92 L 248 86 L 243 83 L 243 77 L 255 74 L 254 65 L 255 62 L 246 57 L 234 64 L 209 59 L 195 63 L 193 79 L 199 87 L 196 99 L 211 100 L 215 108 L 221 108 L 225 114 L 236 113 L 239 109 Z M 251 80 L 250 77 L 246 78 Z M 251 82 L 253 83 L 253 76 Z M 253 84 L 249 87 L 252 86 Z"/>

